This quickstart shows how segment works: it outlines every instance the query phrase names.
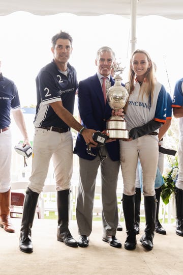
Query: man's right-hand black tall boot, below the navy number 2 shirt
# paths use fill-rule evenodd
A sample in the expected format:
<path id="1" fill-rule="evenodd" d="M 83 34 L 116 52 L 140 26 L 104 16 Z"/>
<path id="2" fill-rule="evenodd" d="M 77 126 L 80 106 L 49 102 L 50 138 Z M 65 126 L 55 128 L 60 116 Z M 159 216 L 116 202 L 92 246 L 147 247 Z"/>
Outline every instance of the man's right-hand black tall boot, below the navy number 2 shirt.
<path id="1" fill-rule="evenodd" d="M 57 240 L 62 241 L 66 245 L 75 248 L 76 246 L 78 246 L 77 241 L 72 237 L 68 228 L 69 204 L 70 204 L 70 189 L 57 191 L 57 209 L 58 209 Z"/>

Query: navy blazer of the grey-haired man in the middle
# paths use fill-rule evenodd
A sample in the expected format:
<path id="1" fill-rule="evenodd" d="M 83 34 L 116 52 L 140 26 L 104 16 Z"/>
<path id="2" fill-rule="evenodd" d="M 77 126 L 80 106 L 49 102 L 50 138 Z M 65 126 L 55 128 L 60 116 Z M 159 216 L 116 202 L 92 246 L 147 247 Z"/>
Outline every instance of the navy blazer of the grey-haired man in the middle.
<path id="1" fill-rule="evenodd" d="M 110 78 L 111 86 L 114 79 Z M 97 73 L 79 82 L 78 86 L 78 109 L 81 124 L 88 129 L 103 131 L 106 129 L 106 120 L 111 117 L 112 109 L 108 102 L 104 103 L 102 87 Z M 106 148 L 112 160 L 119 160 L 119 142 L 106 143 Z M 92 148 L 97 154 L 97 150 Z M 83 136 L 78 133 L 74 153 L 79 157 L 92 160 L 95 156 L 89 155 Z"/>

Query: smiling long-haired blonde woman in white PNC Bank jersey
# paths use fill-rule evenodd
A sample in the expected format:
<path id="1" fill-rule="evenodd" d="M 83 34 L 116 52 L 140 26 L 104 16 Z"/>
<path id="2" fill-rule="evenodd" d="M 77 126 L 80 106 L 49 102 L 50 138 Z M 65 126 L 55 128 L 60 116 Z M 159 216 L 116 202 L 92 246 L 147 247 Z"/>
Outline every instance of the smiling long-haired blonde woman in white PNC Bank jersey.
<path id="1" fill-rule="evenodd" d="M 120 141 L 120 164 L 124 180 L 123 209 L 127 229 L 125 248 L 136 248 L 135 178 L 138 158 L 143 173 L 146 218 L 145 234 L 140 239 L 153 249 L 155 232 L 155 178 L 158 165 L 158 132 L 166 122 L 166 90 L 154 75 L 153 62 L 145 50 L 135 50 L 130 61 L 130 95 L 125 106 L 129 141 Z"/>

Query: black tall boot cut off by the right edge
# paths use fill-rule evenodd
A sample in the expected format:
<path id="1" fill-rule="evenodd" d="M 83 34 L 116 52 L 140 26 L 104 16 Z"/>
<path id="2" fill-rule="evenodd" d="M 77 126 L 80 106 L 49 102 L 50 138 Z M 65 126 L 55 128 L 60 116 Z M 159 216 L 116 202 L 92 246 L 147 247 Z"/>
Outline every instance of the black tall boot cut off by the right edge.
<path id="1" fill-rule="evenodd" d="M 176 187 L 175 189 L 176 204 L 176 229 L 178 236 L 183 236 L 183 190 Z"/>

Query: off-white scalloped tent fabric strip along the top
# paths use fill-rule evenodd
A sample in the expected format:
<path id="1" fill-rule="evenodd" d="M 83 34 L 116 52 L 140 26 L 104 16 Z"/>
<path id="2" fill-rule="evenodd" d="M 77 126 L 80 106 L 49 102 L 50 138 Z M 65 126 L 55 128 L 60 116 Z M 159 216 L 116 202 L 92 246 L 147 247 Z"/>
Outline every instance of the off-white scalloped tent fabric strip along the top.
<path id="1" fill-rule="evenodd" d="M 83 16 L 116 14 L 130 17 L 131 0 L 1 0 L 0 15 L 25 11 L 35 15 L 73 13 Z M 183 19 L 182 0 L 139 0 L 137 16 L 159 15 Z"/>

